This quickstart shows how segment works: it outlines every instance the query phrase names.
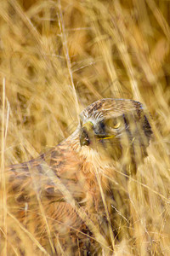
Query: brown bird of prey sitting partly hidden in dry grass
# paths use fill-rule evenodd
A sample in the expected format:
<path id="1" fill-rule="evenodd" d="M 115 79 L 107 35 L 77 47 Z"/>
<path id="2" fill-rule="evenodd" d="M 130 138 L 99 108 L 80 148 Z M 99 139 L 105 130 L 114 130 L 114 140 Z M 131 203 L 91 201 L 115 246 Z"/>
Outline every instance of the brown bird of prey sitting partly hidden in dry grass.
<path id="1" fill-rule="evenodd" d="M 56 147 L 9 166 L 8 255 L 111 255 L 117 170 L 135 176 L 151 134 L 140 102 L 105 98 L 85 108 Z"/>

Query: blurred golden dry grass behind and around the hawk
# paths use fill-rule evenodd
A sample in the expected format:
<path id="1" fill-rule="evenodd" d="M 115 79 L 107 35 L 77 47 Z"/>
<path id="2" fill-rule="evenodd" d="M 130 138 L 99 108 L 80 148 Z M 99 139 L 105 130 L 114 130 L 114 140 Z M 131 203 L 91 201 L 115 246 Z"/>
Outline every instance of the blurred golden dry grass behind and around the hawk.
<path id="1" fill-rule="evenodd" d="M 129 185 L 131 241 L 117 255 L 132 244 L 134 255 L 170 254 L 169 11 L 168 0 L 0 0 L 2 166 L 68 137 L 99 98 L 137 100 L 153 117 L 155 143 Z"/>

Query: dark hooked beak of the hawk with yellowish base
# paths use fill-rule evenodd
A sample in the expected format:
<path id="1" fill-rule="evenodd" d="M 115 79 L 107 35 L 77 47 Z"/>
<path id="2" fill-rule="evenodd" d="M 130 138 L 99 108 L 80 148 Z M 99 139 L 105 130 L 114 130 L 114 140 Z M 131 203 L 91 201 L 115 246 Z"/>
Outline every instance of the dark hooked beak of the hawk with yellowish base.
<path id="1" fill-rule="evenodd" d="M 91 143 L 92 132 L 93 132 L 93 123 L 88 121 L 82 126 L 82 131 L 80 133 L 80 145 L 88 146 Z"/>

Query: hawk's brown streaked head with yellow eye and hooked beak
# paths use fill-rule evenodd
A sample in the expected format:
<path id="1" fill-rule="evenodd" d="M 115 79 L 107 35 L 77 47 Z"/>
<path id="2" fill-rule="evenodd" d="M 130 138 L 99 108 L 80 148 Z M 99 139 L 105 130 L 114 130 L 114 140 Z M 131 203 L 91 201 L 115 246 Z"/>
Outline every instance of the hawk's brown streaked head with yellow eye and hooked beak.
<path id="1" fill-rule="evenodd" d="M 80 144 L 113 160 L 143 158 L 151 127 L 139 102 L 103 99 L 80 115 Z"/>

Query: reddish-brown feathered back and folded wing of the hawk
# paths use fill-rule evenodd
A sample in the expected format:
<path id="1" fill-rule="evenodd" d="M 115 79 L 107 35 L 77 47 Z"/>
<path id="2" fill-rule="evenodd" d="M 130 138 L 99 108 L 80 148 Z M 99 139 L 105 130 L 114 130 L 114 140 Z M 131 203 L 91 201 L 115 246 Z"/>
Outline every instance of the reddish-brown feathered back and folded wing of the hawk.
<path id="1" fill-rule="evenodd" d="M 89 250 L 89 237 L 83 233 L 89 236 L 90 231 L 75 205 L 85 197 L 84 181 L 78 174 L 82 162 L 68 143 L 64 141 L 37 159 L 6 169 L 10 222 L 19 222 L 50 255 L 62 250 L 76 255 L 80 247 L 84 247 L 82 252 Z M 16 233 L 15 229 L 8 233 L 14 243 L 20 241 Z M 26 255 L 24 248 L 21 251 Z"/>

